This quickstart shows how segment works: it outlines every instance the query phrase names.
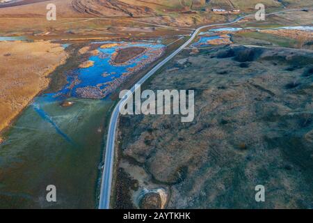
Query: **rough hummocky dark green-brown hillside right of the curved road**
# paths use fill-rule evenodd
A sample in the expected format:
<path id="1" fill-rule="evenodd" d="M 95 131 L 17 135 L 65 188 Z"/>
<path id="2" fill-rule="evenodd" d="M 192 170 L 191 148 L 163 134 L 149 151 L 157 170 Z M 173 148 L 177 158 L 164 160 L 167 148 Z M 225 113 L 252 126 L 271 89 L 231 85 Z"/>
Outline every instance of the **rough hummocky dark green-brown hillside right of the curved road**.
<path id="1" fill-rule="evenodd" d="M 176 56 L 144 89 L 194 90 L 195 118 L 121 116 L 119 167 L 138 182 L 117 186 L 124 203 L 139 207 L 139 192 L 162 187 L 166 208 L 312 208 L 312 63 L 303 49 Z M 266 202 L 255 201 L 257 185 Z"/>

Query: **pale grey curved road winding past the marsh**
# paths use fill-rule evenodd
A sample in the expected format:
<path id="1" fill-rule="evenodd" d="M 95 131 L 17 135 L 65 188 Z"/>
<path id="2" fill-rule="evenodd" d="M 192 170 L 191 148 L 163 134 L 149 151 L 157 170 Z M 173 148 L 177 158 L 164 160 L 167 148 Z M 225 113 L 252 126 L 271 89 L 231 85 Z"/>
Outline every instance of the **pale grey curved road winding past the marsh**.
<path id="1" fill-rule="evenodd" d="M 290 12 L 290 11 L 298 11 L 298 10 L 304 10 L 308 9 L 311 10 L 311 8 L 299 8 L 299 9 L 289 9 L 289 10 L 282 10 L 279 12 L 275 13 L 268 13 L 266 15 L 274 15 L 274 14 L 279 14 L 279 13 L 285 13 L 285 12 Z M 210 26 L 225 26 L 225 25 L 230 25 L 234 24 L 236 22 L 239 22 L 240 20 L 243 20 L 246 17 L 251 17 L 255 16 L 255 14 L 252 15 L 246 15 L 243 17 L 239 17 L 238 19 L 234 20 L 233 22 L 227 22 L 223 24 L 210 24 L 206 26 L 201 26 L 198 29 L 196 29 L 191 38 L 189 38 L 184 45 L 179 47 L 178 49 L 175 50 L 175 52 L 172 52 L 170 56 L 168 56 L 166 59 L 161 61 L 157 66 L 152 68 L 150 72 L 147 73 L 139 82 L 136 83 L 136 85 L 141 85 L 143 84 L 149 77 L 154 75 L 157 70 L 159 70 L 163 65 L 165 65 L 170 59 L 172 59 L 174 56 L 179 54 L 179 52 L 182 52 L 182 50 L 188 46 L 196 36 L 198 36 L 198 33 L 207 27 Z M 131 93 L 134 93 L 136 91 L 136 87 L 133 86 L 131 88 Z M 99 209 L 109 209 L 110 208 L 110 200 L 111 200 L 111 187 L 112 187 L 112 174 L 113 174 L 113 164 L 114 164 L 114 148 L 115 148 L 115 132 L 116 128 L 118 126 L 118 116 L 120 114 L 119 112 L 119 107 L 122 106 L 125 103 L 125 99 L 127 98 L 127 95 L 125 95 L 125 98 L 120 100 L 118 102 L 118 105 L 115 106 L 115 109 L 113 110 L 111 120 L 110 120 L 110 125 L 109 125 L 109 132 L 106 140 L 106 155 L 105 155 L 105 160 L 104 160 L 104 170 L 102 174 L 102 184 L 101 184 L 101 192 L 100 192 L 100 201 L 99 201 Z"/>

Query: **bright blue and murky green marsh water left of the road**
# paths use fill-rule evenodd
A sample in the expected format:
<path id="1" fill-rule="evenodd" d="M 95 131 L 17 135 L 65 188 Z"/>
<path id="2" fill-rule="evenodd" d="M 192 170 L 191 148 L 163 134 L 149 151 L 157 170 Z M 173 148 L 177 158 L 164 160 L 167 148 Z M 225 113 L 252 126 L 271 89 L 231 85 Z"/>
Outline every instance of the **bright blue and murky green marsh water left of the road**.
<path id="1" fill-rule="evenodd" d="M 75 78 L 68 75 L 60 91 L 39 95 L 17 118 L 0 145 L 0 208 L 97 207 L 106 121 L 113 102 L 107 96 L 81 98 L 76 90 L 106 86 L 128 68 L 148 60 L 151 51 L 163 47 L 152 43 L 122 45 L 129 46 L 150 50 L 127 64 L 113 66 L 110 59 L 119 47 L 99 48 L 102 54 L 89 58 L 95 62 L 93 66 L 77 68 Z M 64 101 L 70 104 L 61 106 Z M 47 202 L 48 185 L 56 186 L 57 202 Z"/>

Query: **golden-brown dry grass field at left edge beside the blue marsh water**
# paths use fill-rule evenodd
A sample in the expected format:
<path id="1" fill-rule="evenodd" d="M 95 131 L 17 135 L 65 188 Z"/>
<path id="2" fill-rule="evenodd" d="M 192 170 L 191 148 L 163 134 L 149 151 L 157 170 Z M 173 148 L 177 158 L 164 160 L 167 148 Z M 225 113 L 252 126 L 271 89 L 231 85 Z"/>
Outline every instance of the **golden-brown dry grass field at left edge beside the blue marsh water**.
<path id="1" fill-rule="evenodd" d="M 59 44 L 0 43 L 0 131 L 49 84 L 48 75 L 67 59 Z"/>

